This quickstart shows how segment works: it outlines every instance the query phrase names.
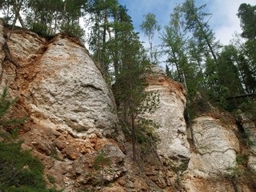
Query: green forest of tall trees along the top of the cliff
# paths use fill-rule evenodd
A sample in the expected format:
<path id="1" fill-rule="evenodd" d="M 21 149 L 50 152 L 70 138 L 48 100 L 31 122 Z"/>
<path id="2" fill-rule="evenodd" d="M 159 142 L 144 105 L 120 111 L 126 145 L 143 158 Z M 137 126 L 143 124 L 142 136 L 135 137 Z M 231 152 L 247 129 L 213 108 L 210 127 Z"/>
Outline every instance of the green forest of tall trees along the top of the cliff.
<path id="1" fill-rule="evenodd" d="M 116 100 L 124 102 L 132 116 L 147 98 L 141 93 L 145 86 L 141 74 L 150 65 L 158 65 L 163 55 L 167 58 L 166 75 L 186 87 L 190 109 L 207 108 L 204 101 L 230 111 L 242 103 L 252 105 L 256 6 L 240 5 L 236 14 L 242 34 L 228 46 L 216 41 L 208 23 L 211 14 L 204 12 L 206 6 L 197 7 L 194 0 L 186 0 L 174 7 L 166 26 L 159 26 L 154 14 L 144 15 L 140 27 L 150 47 L 143 47 L 126 6 L 118 0 L 0 1 L 2 19 L 10 28 L 19 23 L 46 38 L 61 32 L 86 42 L 106 81 L 114 83 Z M 153 45 L 155 36 L 161 38 L 161 45 Z M 122 114 L 126 116 L 126 112 Z"/>

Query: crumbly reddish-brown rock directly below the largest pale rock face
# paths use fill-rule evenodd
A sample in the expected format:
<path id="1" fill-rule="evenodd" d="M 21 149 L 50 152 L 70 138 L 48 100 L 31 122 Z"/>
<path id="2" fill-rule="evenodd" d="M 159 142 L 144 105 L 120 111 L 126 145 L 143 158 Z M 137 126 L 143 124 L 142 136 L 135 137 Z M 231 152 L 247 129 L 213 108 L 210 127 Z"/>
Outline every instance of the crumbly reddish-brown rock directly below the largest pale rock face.
<path id="1" fill-rule="evenodd" d="M 126 174 L 126 156 L 118 143 L 108 138 L 74 138 L 67 130 L 30 126 L 22 134 L 22 147 L 31 150 L 45 166 L 46 181 L 64 192 L 100 189 L 99 183 L 114 182 Z M 32 129 L 33 128 L 33 129 Z M 96 169 L 100 153 L 108 162 L 104 164 L 104 177 Z M 101 166 L 99 164 L 98 166 Z"/>

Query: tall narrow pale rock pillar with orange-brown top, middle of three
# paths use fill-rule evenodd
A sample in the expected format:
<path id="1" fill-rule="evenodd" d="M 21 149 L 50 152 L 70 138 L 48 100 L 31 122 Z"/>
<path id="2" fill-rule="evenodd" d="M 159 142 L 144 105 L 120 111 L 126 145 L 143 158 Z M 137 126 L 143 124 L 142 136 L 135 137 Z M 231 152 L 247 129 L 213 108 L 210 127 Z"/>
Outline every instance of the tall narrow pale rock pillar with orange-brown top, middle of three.
<path id="1" fill-rule="evenodd" d="M 153 91 L 159 95 L 158 109 L 153 114 L 147 114 L 160 126 L 155 130 L 158 135 L 158 154 L 174 162 L 188 162 L 190 159 L 190 145 L 186 137 L 186 122 L 184 109 L 186 106 L 186 90 L 182 84 L 167 78 L 157 67 L 147 78 L 149 85 L 146 91 Z"/>

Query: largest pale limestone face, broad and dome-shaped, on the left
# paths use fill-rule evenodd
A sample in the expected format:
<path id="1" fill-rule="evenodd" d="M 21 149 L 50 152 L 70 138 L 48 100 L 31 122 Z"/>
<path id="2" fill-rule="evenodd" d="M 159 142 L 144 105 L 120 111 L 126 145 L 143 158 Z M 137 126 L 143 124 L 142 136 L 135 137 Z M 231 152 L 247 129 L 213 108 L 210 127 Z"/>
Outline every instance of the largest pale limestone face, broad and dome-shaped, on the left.
<path id="1" fill-rule="evenodd" d="M 27 98 L 35 122 L 54 122 L 78 137 L 91 129 L 113 136 L 118 123 L 114 97 L 84 47 L 58 36 L 35 70 Z"/>

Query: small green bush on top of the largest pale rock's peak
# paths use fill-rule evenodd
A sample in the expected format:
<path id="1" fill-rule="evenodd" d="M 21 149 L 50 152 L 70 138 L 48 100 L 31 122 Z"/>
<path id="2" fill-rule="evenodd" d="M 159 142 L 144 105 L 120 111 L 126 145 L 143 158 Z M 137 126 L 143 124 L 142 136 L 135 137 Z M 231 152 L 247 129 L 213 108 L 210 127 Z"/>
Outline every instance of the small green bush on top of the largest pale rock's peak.
<path id="1" fill-rule="evenodd" d="M 65 24 L 61 27 L 61 31 L 64 34 L 70 35 L 71 37 L 80 39 L 83 39 L 85 35 L 85 31 L 82 29 L 81 26 L 78 25 Z"/>

